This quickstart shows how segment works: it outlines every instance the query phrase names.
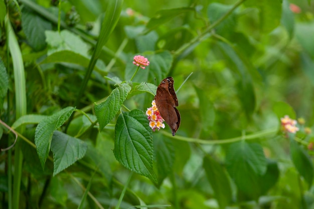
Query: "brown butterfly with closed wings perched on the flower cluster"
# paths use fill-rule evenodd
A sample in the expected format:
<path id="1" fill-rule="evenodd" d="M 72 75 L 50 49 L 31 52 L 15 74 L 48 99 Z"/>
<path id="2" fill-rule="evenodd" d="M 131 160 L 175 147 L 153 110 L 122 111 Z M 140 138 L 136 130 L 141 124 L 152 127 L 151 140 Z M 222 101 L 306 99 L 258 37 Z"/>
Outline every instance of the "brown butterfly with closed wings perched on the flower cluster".
<path id="1" fill-rule="evenodd" d="M 178 106 L 178 99 L 174 89 L 174 79 L 172 77 L 165 78 L 157 88 L 155 96 L 156 106 L 166 123 L 172 129 L 172 135 L 180 126 L 181 117 Z"/>

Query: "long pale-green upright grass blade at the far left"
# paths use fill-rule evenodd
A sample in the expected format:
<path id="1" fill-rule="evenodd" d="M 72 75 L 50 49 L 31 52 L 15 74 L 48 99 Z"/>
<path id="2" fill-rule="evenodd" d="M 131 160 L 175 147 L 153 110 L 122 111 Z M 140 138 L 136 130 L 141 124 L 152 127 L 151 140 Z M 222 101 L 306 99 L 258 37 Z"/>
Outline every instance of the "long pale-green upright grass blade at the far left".
<path id="1" fill-rule="evenodd" d="M 7 29 L 8 46 L 13 61 L 14 84 L 15 84 L 15 100 L 16 100 L 16 119 L 26 115 L 26 85 L 25 85 L 25 72 L 24 64 L 20 46 L 16 39 L 15 33 L 9 21 L 9 16 L 5 18 Z M 18 131 L 23 134 L 25 127 L 20 127 Z M 22 177 L 22 162 L 23 154 L 21 143 L 18 139 L 15 147 L 15 160 L 14 160 L 14 179 L 13 179 L 13 202 L 12 208 L 18 209 L 20 203 L 20 186 Z"/>

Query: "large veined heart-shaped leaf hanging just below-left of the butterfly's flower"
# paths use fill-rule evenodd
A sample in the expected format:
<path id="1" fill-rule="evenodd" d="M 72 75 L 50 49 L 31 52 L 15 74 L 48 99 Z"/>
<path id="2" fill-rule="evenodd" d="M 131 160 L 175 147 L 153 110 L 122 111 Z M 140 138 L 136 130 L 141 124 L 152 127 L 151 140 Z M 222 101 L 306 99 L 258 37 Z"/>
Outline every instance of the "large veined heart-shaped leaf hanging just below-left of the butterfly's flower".
<path id="1" fill-rule="evenodd" d="M 114 156 L 126 168 L 157 183 L 152 169 L 152 130 L 145 113 L 134 109 L 120 114 L 115 126 Z"/>

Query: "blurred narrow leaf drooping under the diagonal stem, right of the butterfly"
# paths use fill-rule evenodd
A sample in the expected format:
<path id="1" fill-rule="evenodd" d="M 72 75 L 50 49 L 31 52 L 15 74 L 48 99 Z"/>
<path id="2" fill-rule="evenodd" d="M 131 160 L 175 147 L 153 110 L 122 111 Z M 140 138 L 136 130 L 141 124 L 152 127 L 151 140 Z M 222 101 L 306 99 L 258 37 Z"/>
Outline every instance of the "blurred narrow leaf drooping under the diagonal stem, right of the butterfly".
<path id="1" fill-rule="evenodd" d="M 233 75 L 237 82 L 236 87 L 239 100 L 246 116 L 249 117 L 254 112 L 256 105 L 250 66 L 247 66 L 229 45 L 219 42 L 218 46 L 230 61 L 230 68 L 233 70 Z"/>

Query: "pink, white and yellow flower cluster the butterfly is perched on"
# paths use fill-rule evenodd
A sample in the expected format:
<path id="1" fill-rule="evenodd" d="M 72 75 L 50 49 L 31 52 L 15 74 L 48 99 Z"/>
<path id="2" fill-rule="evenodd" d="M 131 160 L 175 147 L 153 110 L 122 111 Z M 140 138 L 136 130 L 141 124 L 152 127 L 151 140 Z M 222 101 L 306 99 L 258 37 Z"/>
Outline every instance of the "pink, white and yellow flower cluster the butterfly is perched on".
<path id="1" fill-rule="evenodd" d="M 152 131 L 165 128 L 164 119 L 157 109 L 155 100 L 152 100 L 151 107 L 147 108 L 146 115 L 149 120 L 149 127 L 152 129 Z"/>

